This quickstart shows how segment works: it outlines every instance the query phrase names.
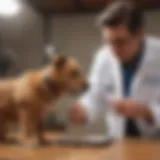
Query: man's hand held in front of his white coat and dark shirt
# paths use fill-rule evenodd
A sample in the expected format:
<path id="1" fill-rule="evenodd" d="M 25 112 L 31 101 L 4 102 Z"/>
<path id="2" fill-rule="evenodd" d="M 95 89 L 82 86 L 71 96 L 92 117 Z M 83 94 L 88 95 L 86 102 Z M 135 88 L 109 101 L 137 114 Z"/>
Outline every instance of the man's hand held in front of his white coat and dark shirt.
<path id="1" fill-rule="evenodd" d="M 143 118 L 147 122 L 153 122 L 151 111 L 144 104 L 132 99 L 124 99 L 112 102 L 116 111 L 128 118 Z"/>

